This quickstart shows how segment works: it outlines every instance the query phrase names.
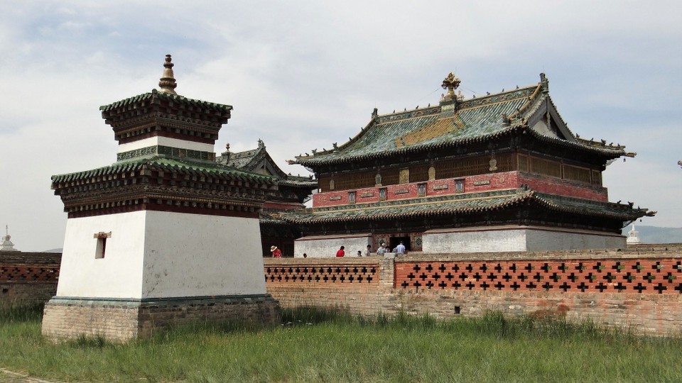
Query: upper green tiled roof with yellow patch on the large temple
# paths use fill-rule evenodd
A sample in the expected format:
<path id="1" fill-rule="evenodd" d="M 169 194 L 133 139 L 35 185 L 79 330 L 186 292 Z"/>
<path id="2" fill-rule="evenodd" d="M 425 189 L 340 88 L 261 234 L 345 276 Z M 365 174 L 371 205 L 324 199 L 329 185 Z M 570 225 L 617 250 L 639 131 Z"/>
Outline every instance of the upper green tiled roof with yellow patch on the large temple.
<path id="1" fill-rule="evenodd" d="M 553 103 L 537 84 L 521 89 L 458 101 L 439 106 L 375 116 L 354 138 L 333 150 L 298 156 L 304 166 L 352 162 L 406 154 L 431 148 L 491 140 L 499 135 L 526 130 L 540 140 L 582 150 L 602 152 L 609 157 L 624 155 L 622 147 L 585 145 L 568 132 L 567 140 L 542 135 L 529 128 L 527 119 L 544 102 Z M 448 109 L 453 109 L 448 113 Z M 511 117 L 505 121 L 504 115 Z M 565 124 L 564 124 L 565 125 Z"/>

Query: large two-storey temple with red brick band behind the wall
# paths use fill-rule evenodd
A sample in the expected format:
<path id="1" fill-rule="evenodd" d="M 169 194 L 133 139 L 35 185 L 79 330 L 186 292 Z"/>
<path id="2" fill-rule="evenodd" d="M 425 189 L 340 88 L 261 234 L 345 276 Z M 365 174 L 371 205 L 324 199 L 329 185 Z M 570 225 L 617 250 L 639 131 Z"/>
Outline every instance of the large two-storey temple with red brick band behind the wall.
<path id="1" fill-rule="evenodd" d="M 290 161 L 319 182 L 311 209 L 282 216 L 303 233 L 296 257 L 400 242 L 428 253 L 624 248 L 622 228 L 655 212 L 609 202 L 602 172 L 635 154 L 570 131 L 540 79 L 465 99 L 450 73 L 438 105 L 374 109 L 347 143 Z"/>

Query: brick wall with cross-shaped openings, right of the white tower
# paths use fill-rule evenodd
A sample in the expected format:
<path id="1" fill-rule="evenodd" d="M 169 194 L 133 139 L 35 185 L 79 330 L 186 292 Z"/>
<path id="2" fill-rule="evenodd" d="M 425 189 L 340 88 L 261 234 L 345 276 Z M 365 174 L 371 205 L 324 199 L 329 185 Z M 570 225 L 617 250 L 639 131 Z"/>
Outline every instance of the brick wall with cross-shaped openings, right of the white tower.
<path id="1" fill-rule="evenodd" d="M 644 251 L 421 254 L 399 260 L 266 260 L 265 267 L 268 292 L 285 307 L 336 307 L 367 316 L 403 311 L 442 318 L 494 310 L 591 319 L 642 333 L 682 331 L 682 245 Z M 340 278 L 356 267 L 376 267 L 379 280 Z M 326 279 L 309 278 L 313 269 Z M 272 270 L 284 270 L 289 278 L 275 281 Z"/>

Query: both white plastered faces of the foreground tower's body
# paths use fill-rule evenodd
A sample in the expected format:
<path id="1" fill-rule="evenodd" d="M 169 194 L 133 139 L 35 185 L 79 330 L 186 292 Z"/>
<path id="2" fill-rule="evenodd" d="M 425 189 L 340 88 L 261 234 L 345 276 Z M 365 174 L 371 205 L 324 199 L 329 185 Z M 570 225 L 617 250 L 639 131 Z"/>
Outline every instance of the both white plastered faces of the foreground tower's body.
<path id="1" fill-rule="evenodd" d="M 96 259 L 94 233 L 111 232 Z M 265 294 L 258 219 L 136 211 L 70 218 L 58 296 Z"/>

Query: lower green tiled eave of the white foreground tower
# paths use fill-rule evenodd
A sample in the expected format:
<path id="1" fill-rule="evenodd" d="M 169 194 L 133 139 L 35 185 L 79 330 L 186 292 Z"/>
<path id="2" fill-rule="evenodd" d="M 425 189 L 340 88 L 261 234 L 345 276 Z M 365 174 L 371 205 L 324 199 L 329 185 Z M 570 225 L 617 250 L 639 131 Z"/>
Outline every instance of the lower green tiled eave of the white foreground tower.
<path id="1" fill-rule="evenodd" d="M 218 164 L 214 165 L 208 162 L 183 162 L 180 160 L 171 160 L 164 157 L 148 157 L 125 162 L 115 162 L 113 165 L 99 167 L 93 170 L 86 170 L 84 172 L 54 175 L 52 176 L 52 183 L 59 184 L 61 182 L 71 182 L 109 174 L 132 172 L 135 170 L 140 170 L 144 166 L 162 170 L 163 172 L 182 172 L 195 175 L 210 175 L 212 177 L 236 179 L 245 182 L 261 182 L 269 185 L 274 184 L 273 178 L 264 176 L 262 174 L 243 172 L 232 167 L 225 167 Z"/>

